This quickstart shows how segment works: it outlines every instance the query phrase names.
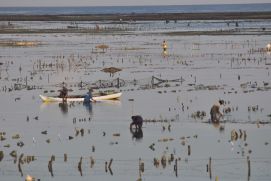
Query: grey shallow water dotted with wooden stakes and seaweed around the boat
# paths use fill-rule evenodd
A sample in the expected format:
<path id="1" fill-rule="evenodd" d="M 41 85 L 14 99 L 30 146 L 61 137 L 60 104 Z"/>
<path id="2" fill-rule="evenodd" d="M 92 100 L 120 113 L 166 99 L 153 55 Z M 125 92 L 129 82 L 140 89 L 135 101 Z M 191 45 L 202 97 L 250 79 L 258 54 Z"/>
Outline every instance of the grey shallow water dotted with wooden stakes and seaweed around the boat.
<path id="1" fill-rule="evenodd" d="M 1 180 L 270 180 L 270 21 L 1 23 Z"/>

